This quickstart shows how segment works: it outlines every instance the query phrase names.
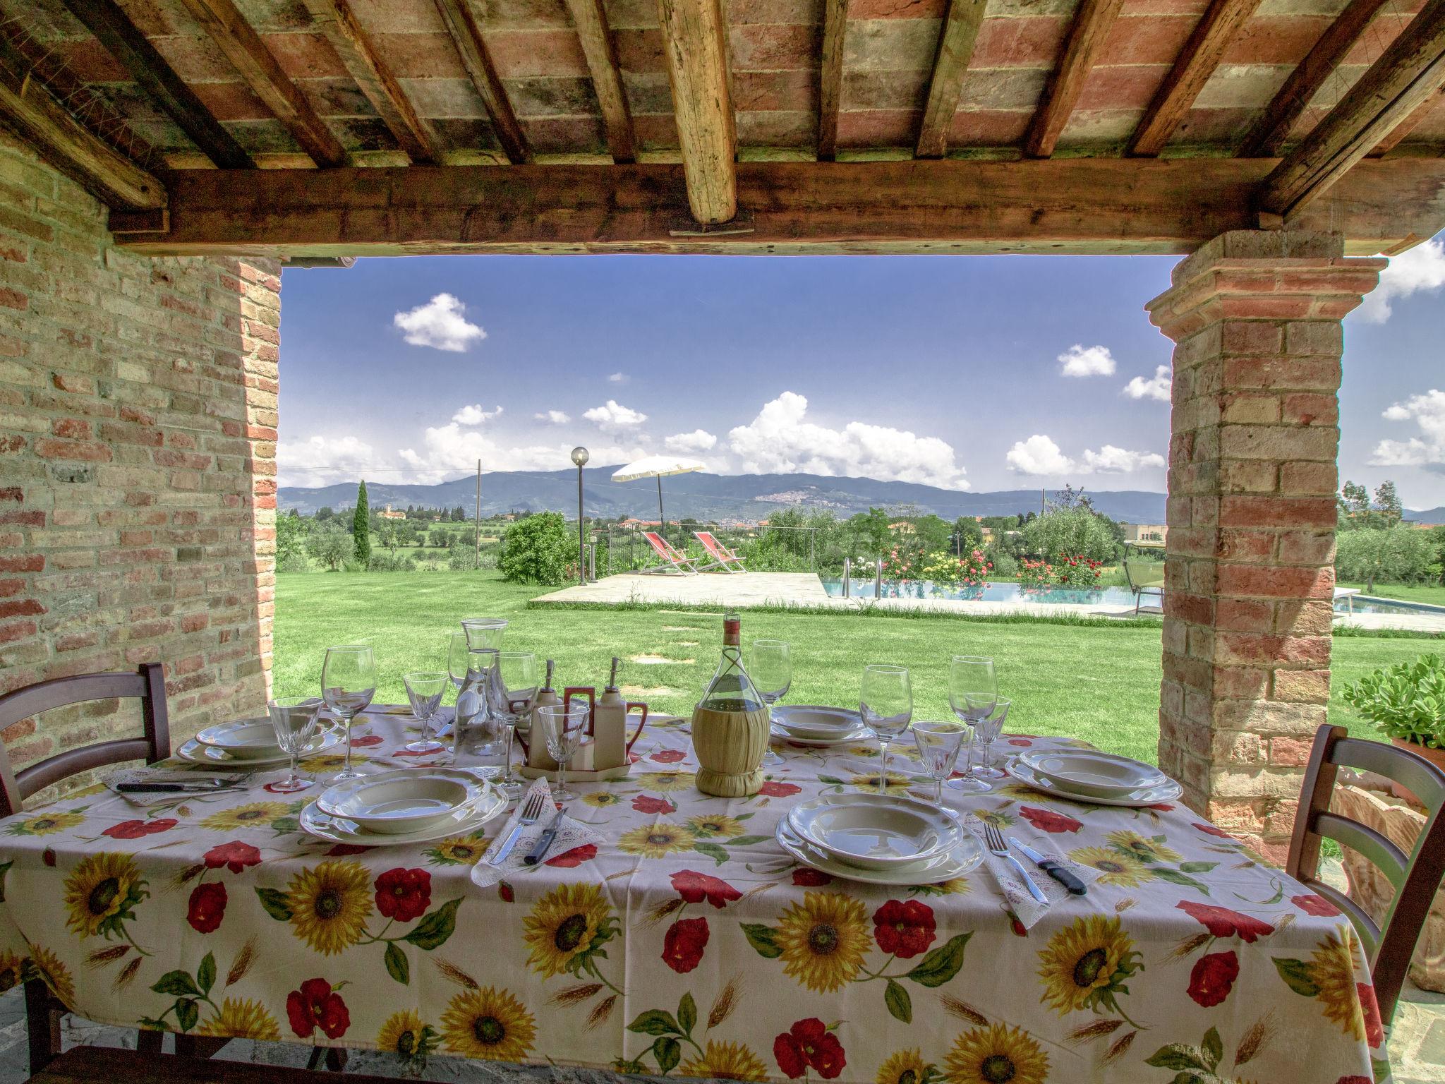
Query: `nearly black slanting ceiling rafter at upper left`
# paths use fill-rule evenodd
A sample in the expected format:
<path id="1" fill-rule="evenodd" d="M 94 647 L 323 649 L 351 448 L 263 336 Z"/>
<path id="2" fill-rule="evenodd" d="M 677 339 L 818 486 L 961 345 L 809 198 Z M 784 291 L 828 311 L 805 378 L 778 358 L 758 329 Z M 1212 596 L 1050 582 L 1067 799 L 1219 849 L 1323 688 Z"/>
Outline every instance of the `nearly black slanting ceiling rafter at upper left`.
<path id="1" fill-rule="evenodd" d="M 65 6 L 217 168 L 254 166 L 246 149 L 211 116 L 211 110 L 136 29 L 116 0 L 65 0 Z"/>

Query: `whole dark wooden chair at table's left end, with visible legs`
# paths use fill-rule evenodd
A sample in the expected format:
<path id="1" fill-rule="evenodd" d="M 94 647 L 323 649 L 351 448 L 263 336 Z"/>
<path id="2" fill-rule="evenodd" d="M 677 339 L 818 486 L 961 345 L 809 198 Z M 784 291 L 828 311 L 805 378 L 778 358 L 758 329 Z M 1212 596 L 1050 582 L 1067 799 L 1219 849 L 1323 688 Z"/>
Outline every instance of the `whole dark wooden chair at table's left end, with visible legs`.
<path id="1" fill-rule="evenodd" d="M 165 672 L 158 662 L 147 662 L 134 674 L 78 674 L 26 685 L 0 697 L 0 730 L 22 718 L 52 708 L 95 700 L 139 700 L 144 734 L 114 739 L 94 746 L 68 749 L 19 772 L 0 746 L 0 817 L 20 812 L 22 804 L 36 791 L 62 779 L 123 760 L 147 765 L 171 756 L 171 724 L 166 717 Z M 61 1018 L 69 1012 L 39 978 L 25 983 L 25 1016 L 30 1035 L 30 1072 L 39 1072 L 61 1052 Z M 160 1032 L 140 1032 L 137 1045 L 144 1051 L 160 1049 Z"/>

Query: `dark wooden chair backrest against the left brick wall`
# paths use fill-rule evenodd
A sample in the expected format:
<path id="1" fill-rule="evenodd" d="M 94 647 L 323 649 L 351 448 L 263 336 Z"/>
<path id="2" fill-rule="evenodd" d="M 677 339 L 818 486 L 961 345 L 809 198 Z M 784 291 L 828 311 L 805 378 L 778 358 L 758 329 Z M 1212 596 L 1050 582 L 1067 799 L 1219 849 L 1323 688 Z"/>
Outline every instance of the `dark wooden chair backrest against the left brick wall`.
<path id="1" fill-rule="evenodd" d="M 10 769 L 10 757 L 0 746 L 0 817 L 19 812 L 25 799 L 36 791 L 43 791 L 51 783 L 69 779 L 72 775 L 121 760 L 144 760 L 152 765 L 171 756 L 166 679 L 159 662 L 142 663 L 134 674 L 77 674 L 72 678 L 52 678 L 0 697 L 0 730 L 52 708 L 117 698 L 140 701 L 143 737 L 68 749 L 19 772 Z"/>

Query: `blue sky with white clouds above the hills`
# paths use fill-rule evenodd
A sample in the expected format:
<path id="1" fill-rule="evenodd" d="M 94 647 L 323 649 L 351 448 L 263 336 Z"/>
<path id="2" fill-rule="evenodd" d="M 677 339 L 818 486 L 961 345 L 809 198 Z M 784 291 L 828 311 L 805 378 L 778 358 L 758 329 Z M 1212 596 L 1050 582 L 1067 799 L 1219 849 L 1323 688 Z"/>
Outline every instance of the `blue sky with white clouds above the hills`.
<path id="1" fill-rule="evenodd" d="M 1163 490 L 1175 257 L 451 256 L 288 270 L 282 484 L 676 451 L 971 490 Z M 1345 324 L 1341 471 L 1445 504 L 1445 244 Z M 1160 397 L 1162 396 L 1162 397 Z M 499 412 L 500 408 L 500 412 Z"/>

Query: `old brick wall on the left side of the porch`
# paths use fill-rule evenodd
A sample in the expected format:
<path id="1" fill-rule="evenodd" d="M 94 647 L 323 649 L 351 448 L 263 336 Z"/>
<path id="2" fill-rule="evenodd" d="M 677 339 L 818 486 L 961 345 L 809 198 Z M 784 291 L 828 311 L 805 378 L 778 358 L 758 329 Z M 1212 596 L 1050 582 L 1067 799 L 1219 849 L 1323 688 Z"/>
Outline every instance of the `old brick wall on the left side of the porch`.
<path id="1" fill-rule="evenodd" d="M 172 734 L 264 711 L 280 267 L 146 259 L 0 133 L 0 692 L 163 662 Z M 139 726 L 0 733 L 16 767 Z"/>

